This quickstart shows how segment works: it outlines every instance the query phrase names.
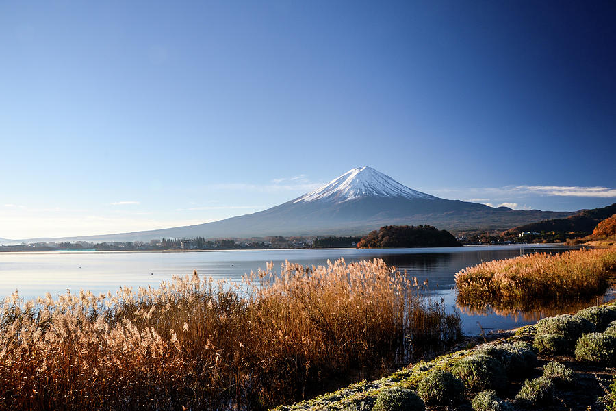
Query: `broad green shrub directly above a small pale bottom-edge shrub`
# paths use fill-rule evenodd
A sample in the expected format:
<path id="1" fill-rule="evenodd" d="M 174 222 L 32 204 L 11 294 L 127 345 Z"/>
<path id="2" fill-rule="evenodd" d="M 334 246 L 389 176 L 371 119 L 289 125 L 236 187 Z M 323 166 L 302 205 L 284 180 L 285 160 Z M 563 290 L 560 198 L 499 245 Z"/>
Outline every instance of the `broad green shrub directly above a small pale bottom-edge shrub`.
<path id="1" fill-rule="evenodd" d="M 460 360 L 454 366 L 453 373 L 460 377 L 472 392 L 487 388 L 500 390 L 507 382 L 501 362 L 481 353 Z"/>

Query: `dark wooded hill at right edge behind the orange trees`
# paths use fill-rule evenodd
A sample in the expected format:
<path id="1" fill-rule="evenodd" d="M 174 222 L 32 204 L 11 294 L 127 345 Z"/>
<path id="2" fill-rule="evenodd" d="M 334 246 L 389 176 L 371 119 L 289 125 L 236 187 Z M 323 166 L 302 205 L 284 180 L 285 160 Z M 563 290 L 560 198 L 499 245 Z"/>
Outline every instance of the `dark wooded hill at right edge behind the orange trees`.
<path id="1" fill-rule="evenodd" d="M 576 214 L 564 219 L 549 219 L 539 221 L 538 223 L 518 225 L 507 230 L 504 234 L 515 235 L 522 232 L 576 232 L 591 234 L 600 221 L 607 219 L 615 213 L 616 203 L 613 203 L 611 206 L 602 208 L 580 210 Z"/>

